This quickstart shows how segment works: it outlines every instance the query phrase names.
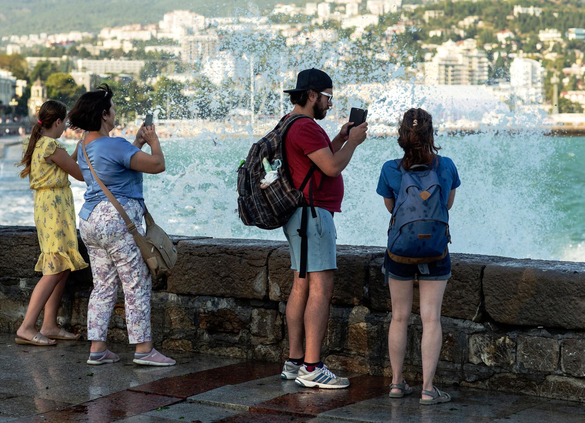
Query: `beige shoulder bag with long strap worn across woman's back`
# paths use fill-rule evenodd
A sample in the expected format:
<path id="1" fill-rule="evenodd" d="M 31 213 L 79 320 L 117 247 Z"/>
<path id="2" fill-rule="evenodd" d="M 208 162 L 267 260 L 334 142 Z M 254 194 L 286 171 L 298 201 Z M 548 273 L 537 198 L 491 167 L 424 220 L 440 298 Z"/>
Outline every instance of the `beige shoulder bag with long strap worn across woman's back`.
<path id="1" fill-rule="evenodd" d="M 140 235 L 140 232 L 138 232 L 138 229 L 136 229 L 136 225 L 130 220 L 122 205 L 118 202 L 118 200 L 116 200 L 116 197 L 112 195 L 104 183 L 102 183 L 97 174 L 95 174 L 94 167 L 91 166 L 90 158 L 87 156 L 87 151 L 85 150 L 85 141 L 81 142 L 81 147 L 83 149 L 85 161 L 87 161 L 87 165 L 90 167 L 91 173 L 94 175 L 94 178 L 97 181 L 99 187 L 102 188 L 102 191 L 104 191 L 104 194 L 106 197 L 108 197 L 108 200 L 112 203 L 113 207 L 118 210 L 119 214 L 122 216 L 122 219 L 124 219 L 126 228 L 128 228 L 128 231 L 132 233 L 132 236 L 136 241 L 136 245 L 140 249 L 142 257 L 144 257 L 144 261 L 146 262 L 153 276 L 159 277 L 166 273 L 169 269 L 172 269 L 175 265 L 175 262 L 177 261 L 177 250 L 175 249 L 173 242 L 170 240 L 170 238 L 168 238 L 167 233 L 164 232 L 160 226 L 154 223 L 154 219 L 150 215 L 148 209 L 146 209 L 144 213 L 144 221 L 146 222 L 146 236 Z"/>

